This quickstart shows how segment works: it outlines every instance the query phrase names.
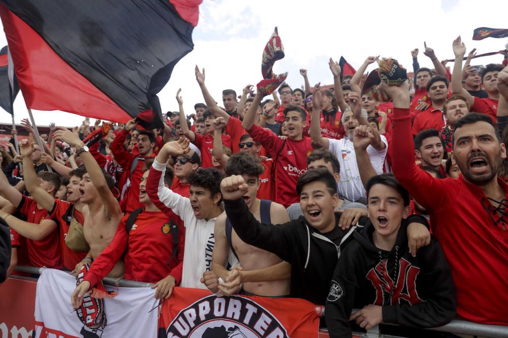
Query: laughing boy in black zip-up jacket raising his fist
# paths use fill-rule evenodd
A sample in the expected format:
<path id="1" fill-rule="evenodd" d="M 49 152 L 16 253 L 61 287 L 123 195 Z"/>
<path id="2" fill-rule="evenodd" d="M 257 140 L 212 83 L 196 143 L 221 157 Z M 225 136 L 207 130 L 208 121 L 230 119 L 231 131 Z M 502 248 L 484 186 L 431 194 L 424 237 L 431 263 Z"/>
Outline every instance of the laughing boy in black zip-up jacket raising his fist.
<path id="1" fill-rule="evenodd" d="M 252 216 L 242 198 L 247 187 L 238 175 L 227 177 L 220 184 L 226 215 L 236 233 L 243 242 L 291 264 L 292 297 L 324 305 L 340 250 L 356 228 L 338 226 L 340 215 L 334 214 L 334 209 L 339 197 L 333 175 L 326 168 L 316 168 L 300 176 L 296 190 L 304 216 L 276 225 L 263 224 Z M 422 225 L 427 221 L 421 216 L 411 218 L 417 222 L 411 224 L 411 231 L 421 240 L 428 234 Z M 360 223 L 366 220 L 363 218 Z"/>

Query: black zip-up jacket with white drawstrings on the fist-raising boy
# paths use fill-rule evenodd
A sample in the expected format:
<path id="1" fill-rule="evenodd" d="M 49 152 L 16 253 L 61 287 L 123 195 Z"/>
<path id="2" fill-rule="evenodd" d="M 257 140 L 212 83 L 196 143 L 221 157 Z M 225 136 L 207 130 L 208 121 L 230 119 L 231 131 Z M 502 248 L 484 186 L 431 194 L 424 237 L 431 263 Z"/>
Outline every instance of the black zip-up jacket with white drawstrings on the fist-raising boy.
<path id="1" fill-rule="evenodd" d="M 291 264 L 292 297 L 303 298 L 316 305 L 325 304 L 340 250 L 353 238 L 356 226 L 340 230 L 342 240 L 337 247 L 308 225 L 303 216 L 283 224 L 264 224 L 252 216 L 243 199 L 225 200 L 224 206 L 228 219 L 243 242 L 272 252 Z M 413 222 L 427 224 L 425 218 L 413 217 Z M 340 215 L 335 214 L 336 224 L 339 218 Z M 359 223 L 367 221 L 368 218 L 362 217 Z"/>

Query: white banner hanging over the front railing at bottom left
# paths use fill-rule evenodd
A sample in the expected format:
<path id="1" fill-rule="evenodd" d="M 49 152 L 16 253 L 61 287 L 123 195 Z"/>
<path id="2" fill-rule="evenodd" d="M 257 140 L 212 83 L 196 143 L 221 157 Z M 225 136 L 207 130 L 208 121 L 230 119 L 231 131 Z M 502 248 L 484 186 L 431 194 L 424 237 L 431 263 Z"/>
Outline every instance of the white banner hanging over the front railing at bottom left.
<path id="1" fill-rule="evenodd" d="M 72 309 L 71 293 L 76 279 L 66 272 L 43 269 L 37 282 L 35 305 L 35 338 L 82 338 L 83 323 Z M 95 332 L 97 337 L 153 337 L 157 336 L 158 300 L 155 289 L 106 286 L 118 295 L 104 299 L 107 325 Z M 88 337 L 89 335 L 86 335 Z M 91 336 L 91 335 L 90 335 Z"/>

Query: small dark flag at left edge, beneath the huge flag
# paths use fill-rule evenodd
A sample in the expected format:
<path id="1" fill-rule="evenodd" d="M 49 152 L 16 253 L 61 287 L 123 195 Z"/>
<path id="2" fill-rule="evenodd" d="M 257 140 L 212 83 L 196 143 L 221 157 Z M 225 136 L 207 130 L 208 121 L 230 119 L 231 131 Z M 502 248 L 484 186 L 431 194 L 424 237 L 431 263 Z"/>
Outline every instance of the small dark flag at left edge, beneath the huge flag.
<path id="1" fill-rule="evenodd" d="M 19 92 L 18 81 L 14 76 L 12 61 L 9 62 L 7 46 L 0 50 L 0 107 L 14 115 L 12 104 Z"/>

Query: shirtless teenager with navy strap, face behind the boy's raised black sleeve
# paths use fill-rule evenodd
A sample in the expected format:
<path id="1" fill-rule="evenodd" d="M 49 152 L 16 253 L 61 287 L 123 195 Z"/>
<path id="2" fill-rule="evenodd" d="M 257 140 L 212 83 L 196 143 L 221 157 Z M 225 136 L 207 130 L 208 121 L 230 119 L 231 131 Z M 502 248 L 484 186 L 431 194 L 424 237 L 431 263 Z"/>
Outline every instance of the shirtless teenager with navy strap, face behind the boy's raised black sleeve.
<path id="1" fill-rule="evenodd" d="M 282 205 L 256 197 L 260 187 L 259 176 L 264 171 L 257 157 L 245 151 L 236 153 L 229 159 L 225 170 L 227 176 L 241 175 L 247 182 L 248 188 L 243 199 L 257 220 L 273 224 L 289 221 L 288 213 Z M 243 283 L 243 294 L 269 297 L 289 295 L 291 276 L 289 263 L 283 262 L 271 252 L 245 244 L 233 230 L 226 213 L 217 217 L 214 234 L 212 271 L 217 277 L 228 282 L 219 287 L 222 293 L 229 295 L 238 290 L 238 286 Z M 225 268 L 230 246 L 241 264 L 240 269 L 234 269 L 232 272 Z"/>

